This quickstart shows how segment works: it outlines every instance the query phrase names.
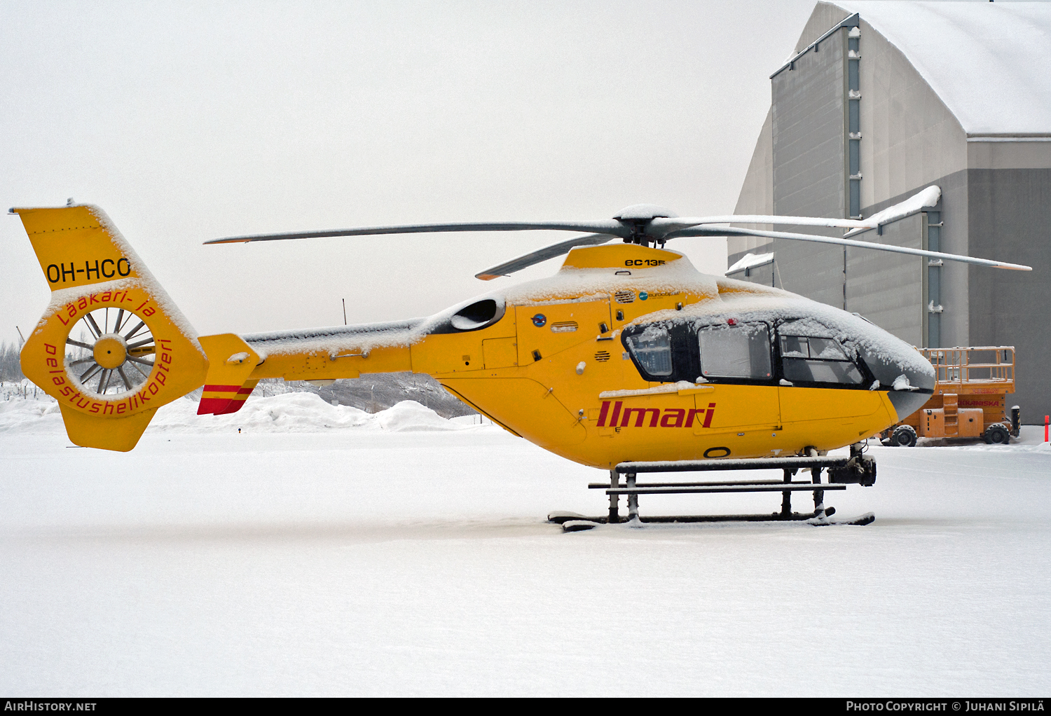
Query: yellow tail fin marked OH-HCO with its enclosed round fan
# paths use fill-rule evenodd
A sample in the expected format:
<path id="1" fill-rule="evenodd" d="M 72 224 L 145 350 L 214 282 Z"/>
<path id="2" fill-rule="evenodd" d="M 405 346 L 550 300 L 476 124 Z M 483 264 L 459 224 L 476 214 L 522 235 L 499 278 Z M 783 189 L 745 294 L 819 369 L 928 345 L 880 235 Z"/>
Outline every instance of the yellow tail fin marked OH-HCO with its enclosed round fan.
<path id="1" fill-rule="evenodd" d="M 16 208 L 51 288 L 22 372 L 59 402 L 76 445 L 130 450 L 208 360 L 168 294 L 95 206 Z"/>

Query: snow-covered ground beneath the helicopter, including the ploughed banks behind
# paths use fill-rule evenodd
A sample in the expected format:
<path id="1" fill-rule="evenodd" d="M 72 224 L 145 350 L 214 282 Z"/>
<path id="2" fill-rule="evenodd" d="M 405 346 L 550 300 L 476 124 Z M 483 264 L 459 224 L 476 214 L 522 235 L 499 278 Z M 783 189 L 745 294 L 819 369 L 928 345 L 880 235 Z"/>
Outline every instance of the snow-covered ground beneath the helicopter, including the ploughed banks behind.
<path id="1" fill-rule="evenodd" d="M 0 402 L 0 691 L 61 695 L 1039 695 L 1051 452 L 881 448 L 868 527 L 624 526 L 583 468 L 416 404 L 315 395 L 126 454 Z M 477 418 L 474 418 L 477 421 Z M 243 429 L 238 434 L 238 427 Z M 780 495 L 643 495 L 643 514 Z M 808 506 L 805 493 L 796 497 Z"/>

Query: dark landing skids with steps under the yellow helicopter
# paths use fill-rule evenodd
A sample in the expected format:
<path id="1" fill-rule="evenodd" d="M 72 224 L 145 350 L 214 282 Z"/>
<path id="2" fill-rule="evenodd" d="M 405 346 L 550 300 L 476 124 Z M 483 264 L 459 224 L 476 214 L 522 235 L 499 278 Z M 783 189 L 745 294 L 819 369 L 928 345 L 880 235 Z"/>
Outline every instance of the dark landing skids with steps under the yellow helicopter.
<path id="1" fill-rule="evenodd" d="M 875 515 L 867 512 L 851 518 L 833 518 L 836 508 L 825 507 L 826 491 L 845 490 L 848 484 L 871 486 L 875 483 L 875 461 L 862 455 L 862 445 L 850 446 L 849 457 L 819 456 L 812 448 L 806 456 L 772 457 L 759 459 L 712 459 L 704 462 L 656 462 L 621 463 L 610 471 L 609 485 L 596 483 L 591 489 L 605 490 L 610 496 L 610 513 L 602 517 L 588 517 L 575 512 L 552 512 L 548 521 L 561 525 L 565 532 L 590 530 L 599 525 L 626 524 L 640 527 L 646 524 L 688 524 L 688 523 L 803 523 L 813 527 L 830 525 L 870 525 Z M 821 473 L 828 469 L 828 483 L 821 482 Z M 708 472 L 722 470 L 783 470 L 781 480 L 737 480 L 705 483 L 638 483 L 639 473 L 652 472 Z M 810 482 L 795 480 L 800 469 L 810 470 Z M 625 484 L 620 484 L 624 475 Z M 794 512 L 792 492 L 811 492 L 813 512 Z M 766 514 L 723 514 L 723 515 L 659 515 L 643 517 L 639 514 L 640 494 L 684 494 L 684 493 L 729 493 L 729 492 L 780 492 L 781 511 Z M 627 497 L 627 518 L 621 519 L 620 495 Z"/>

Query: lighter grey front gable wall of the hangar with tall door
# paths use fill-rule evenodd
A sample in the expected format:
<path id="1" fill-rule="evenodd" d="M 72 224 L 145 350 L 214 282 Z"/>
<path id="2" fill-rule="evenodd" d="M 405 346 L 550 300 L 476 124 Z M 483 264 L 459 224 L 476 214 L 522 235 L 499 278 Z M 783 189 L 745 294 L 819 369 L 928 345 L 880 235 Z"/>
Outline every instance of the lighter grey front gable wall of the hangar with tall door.
<path id="1" fill-rule="evenodd" d="M 834 4 L 815 7 L 797 52 L 848 21 L 850 14 Z M 943 202 L 935 212 L 936 250 L 967 253 L 966 135 L 945 104 L 926 85 L 908 59 L 874 28 L 858 19 L 853 44 L 849 28 L 831 36 L 798 58 L 790 69 L 771 78 L 769 134 L 756 146 L 738 211 L 759 212 L 762 180 L 769 177 L 775 213 L 848 216 L 846 195 L 850 168 L 846 146 L 850 129 L 847 103 L 860 104 L 860 177 L 862 216 L 871 216 L 916 191 L 937 184 Z M 860 35 L 860 37 L 859 37 Z M 850 93 L 846 49 L 858 62 L 860 91 Z M 904 107 L 909 111 L 904 111 Z M 767 139 L 768 137 L 768 139 Z M 766 149 L 766 147 L 769 147 Z M 1049 145 L 1051 146 L 1051 145 Z M 769 151 L 769 163 L 759 157 Z M 888 226 L 884 236 L 866 232 L 875 242 L 921 247 L 926 237 L 914 218 Z M 813 228 L 791 227 L 813 232 Z M 825 231 L 838 236 L 834 229 Z M 916 346 L 962 345 L 968 340 L 966 267 L 928 269 L 923 260 L 802 242 L 730 239 L 729 263 L 745 252 L 775 253 L 775 283 L 808 298 L 857 311 Z M 927 313 L 927 284 L 933 280 L 936 299 Z M 749 279 L 750 280 L 750 279 Z M 933 340 L 932 340 L 933 339 Z"/>

